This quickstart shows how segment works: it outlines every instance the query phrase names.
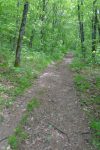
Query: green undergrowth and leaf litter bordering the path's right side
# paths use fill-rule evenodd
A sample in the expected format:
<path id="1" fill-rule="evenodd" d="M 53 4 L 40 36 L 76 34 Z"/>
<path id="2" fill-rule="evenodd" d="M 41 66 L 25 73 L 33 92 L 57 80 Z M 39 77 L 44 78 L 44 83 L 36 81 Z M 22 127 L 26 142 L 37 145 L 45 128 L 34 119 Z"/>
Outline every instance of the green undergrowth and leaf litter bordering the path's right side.
<path id="1" fill-rule="evenodd" d="M 75 72 L 75 87 L 89 118 L 92 143 L 100 149 L 100 69 L 98 65 L 86 64 L 78 58 L 77 60 L 71 64 Z"/>

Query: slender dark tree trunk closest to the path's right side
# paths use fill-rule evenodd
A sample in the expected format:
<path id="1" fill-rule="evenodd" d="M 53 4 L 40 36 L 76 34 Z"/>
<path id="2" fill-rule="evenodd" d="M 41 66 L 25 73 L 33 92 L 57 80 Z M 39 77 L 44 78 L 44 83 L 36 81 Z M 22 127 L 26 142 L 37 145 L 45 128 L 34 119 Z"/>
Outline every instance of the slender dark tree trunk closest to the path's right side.
<path id="1" fill-rule="evenodd" d="M 80 31 L 80 39 L 81 39 L 81 48 L 82 48 L 82 55 L 85 58 L 86 51 L 84 47 L 84 23 L 83 23 L 83 12 L 81 11 L 81 7 L 83 6 L 83 0 L 81 0 L 81 4 L 78 1 L 78 21 L 79 21 L 79 31 Z"/>

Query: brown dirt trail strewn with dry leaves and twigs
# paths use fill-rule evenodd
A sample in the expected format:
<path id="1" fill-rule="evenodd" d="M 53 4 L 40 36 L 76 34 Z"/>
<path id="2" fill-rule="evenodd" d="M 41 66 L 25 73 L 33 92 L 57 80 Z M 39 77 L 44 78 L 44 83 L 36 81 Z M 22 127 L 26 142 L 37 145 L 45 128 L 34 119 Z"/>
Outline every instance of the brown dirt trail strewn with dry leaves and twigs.
<path id="1" fill-rule="evenodd" d="M 73 57 L 49 65 L 33 86 L 19 96 L 13 106 L 5 109 L 0 125 L 0 150 L 10 150 L 11 136 L 26 113 L 32 99 L 39 102 L 28 116 L 23 128 L 28 137 L 17 150 L 94 150 L 90 128 L 73 83 L 69 68 Z M 31 109 L 31 107 L 28 107 Z"/>

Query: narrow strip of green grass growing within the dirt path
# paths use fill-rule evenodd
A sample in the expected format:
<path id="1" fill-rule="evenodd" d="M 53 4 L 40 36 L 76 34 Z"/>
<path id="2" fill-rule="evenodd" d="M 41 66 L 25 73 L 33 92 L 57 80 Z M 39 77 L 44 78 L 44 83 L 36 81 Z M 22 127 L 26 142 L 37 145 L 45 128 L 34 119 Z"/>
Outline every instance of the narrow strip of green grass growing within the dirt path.
<path id="1" fill-rule="evenodd" d="M 22 117 L 20 123 L 17 125 L 17 128 L 14 131 L 14 134 L 8 138 L 8 143 L 10 145 L 10 149 L 18 150 L 20 149 L 20 145 L 22 142 L 28 138 L 28 134 L 25 132 L 25 125 L 27 124 L 27 119 L 30 116 L 31 112 L 40 106 L 40 102 L 38 99 L 33 98 L 27 104 L 27 109 Z"/>

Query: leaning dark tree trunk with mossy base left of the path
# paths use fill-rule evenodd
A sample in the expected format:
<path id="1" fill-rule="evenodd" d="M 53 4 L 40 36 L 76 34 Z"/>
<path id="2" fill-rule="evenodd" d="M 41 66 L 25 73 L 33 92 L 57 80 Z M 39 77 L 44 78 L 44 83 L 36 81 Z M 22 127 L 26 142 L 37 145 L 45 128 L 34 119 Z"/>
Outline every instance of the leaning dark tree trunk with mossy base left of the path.
<path id="1" fill-rule="evenodd" d="M 21 23 L 21 26 L 20 26 L 19 37 L 18 37 L 18 41 L 17 41 L 16 57 L 15 57 L 15 64 L 14 64 L 15 67 L 18 67 L 20 65 L 21 46 L 22 46 L 22 41 L 23 41 L 23 35 L 24 35 L 24 32 L 25 32 L 28 6 L 29 6 L 29 3 L 28 3 L 28 1 L 26 1 L 24 3 L 22 23 Z"/>

